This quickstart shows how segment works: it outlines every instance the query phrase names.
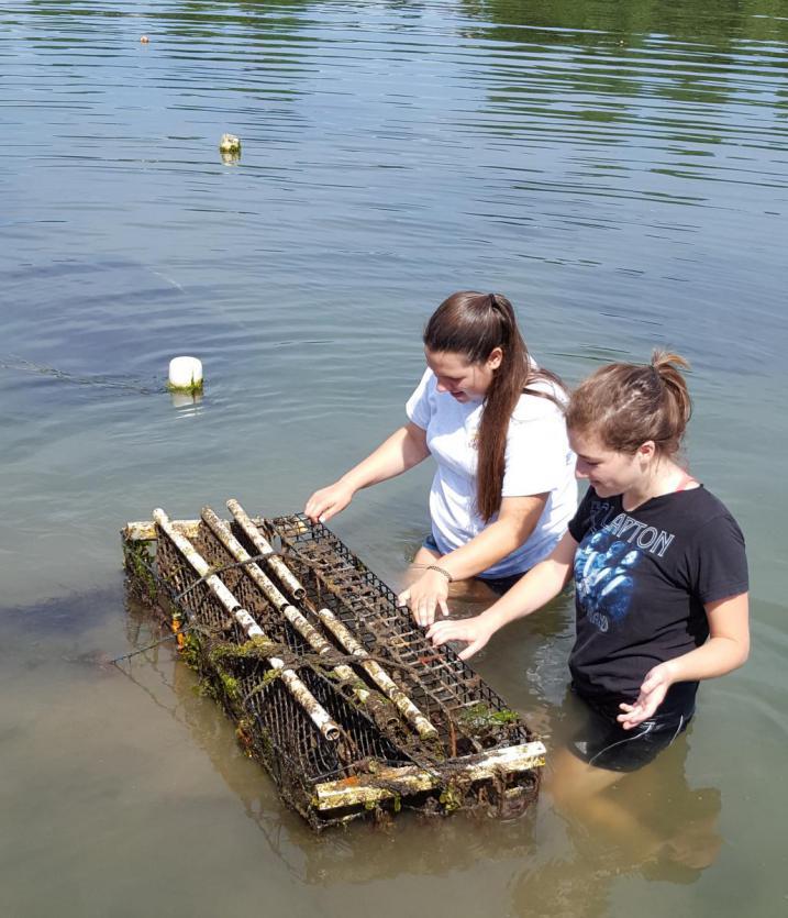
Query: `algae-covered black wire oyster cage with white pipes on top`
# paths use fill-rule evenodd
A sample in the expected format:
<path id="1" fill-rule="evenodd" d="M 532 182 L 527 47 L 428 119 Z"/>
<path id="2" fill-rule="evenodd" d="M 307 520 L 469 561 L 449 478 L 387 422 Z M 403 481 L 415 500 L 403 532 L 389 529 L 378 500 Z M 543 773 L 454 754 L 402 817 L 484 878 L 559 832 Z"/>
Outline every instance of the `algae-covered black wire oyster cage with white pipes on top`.
<path id="1" fill-rule="evenodd" d="M 129 588 L 312 828 L 402 808 L 511 817 L 536 798 L 544 745 L 333 532 L 227 508 L 127 523 Z"/>

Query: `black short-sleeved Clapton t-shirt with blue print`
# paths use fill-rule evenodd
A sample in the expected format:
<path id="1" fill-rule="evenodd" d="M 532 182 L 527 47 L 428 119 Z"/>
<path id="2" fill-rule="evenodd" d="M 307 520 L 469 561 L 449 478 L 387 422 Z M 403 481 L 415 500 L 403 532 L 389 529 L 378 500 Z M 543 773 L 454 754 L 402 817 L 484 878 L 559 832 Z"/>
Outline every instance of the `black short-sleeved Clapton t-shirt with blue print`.
<path id="1" fill-rule="evenodd" d="M 578 543 L 573 684 L 613 717 L 621 701 L 637 698 L 653 666 L 704 643 L 704 604 L 746 593 L 744 537 L 703 487 L 652 498 L 632 512 L 621 495 L 601 498 L 589 488 L 569 532 Z M 697 688 L 675 684 L 659 711 L 690 711 Z"/>

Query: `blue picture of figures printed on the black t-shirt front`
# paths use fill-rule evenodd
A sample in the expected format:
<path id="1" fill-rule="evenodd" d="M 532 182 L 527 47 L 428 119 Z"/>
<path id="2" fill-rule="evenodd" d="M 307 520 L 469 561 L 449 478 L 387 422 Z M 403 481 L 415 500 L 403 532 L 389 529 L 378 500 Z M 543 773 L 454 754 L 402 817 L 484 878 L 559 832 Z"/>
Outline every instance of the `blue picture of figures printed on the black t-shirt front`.
<path id="1" fill-rule="evenodd" d="M 608 529 L 595 532 L 575 554 L 575 587 L 586 617 L 600 631 L 626 618 L 632 602 L 632 572 L 641 552 Z"/>

